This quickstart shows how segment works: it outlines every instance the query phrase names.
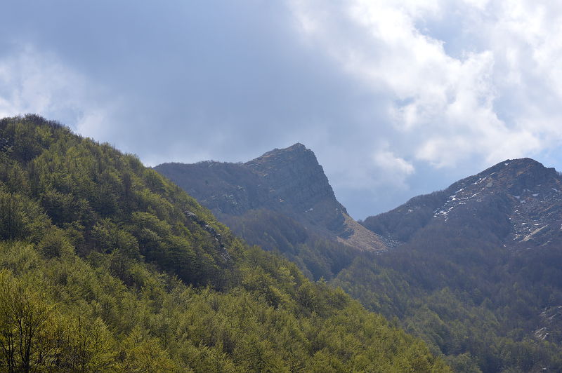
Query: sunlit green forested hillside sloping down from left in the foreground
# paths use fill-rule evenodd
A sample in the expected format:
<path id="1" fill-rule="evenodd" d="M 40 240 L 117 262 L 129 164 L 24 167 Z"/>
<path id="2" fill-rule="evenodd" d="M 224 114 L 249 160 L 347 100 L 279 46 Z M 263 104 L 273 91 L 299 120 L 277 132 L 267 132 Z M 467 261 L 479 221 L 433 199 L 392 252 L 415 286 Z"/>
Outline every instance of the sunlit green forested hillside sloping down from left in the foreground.
<path id="1" fill-rule="evenodd" d="M 135 156 L 38 116 L 0 121 L 0 239 L 3 371 L 449 371 Z"/>

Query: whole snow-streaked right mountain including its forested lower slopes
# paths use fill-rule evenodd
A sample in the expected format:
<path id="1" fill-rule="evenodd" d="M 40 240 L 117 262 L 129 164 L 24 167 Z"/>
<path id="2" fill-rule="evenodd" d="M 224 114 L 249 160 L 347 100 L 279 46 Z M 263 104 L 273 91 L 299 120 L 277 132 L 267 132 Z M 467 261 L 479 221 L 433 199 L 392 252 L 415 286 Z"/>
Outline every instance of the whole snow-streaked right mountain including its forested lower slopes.
<path id="1" fill-rule="evenodd" d="M 458 372 L 562 371 L 562 177 L 512 159 L 362 224 L 393 243 L 333 280 Z"/>

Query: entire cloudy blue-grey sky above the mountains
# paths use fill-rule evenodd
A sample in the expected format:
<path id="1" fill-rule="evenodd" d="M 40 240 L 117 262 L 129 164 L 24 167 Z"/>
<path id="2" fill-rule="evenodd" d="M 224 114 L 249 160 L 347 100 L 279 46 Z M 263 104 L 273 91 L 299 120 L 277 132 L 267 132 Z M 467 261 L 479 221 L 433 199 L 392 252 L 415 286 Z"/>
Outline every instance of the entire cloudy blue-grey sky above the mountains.
<path id="1" fill-rule="evenodd" d="M 5 0 L 0 117 L 146 165 L 301 142 L 355 219 L 507 158 L 562 170 L 562 3 Z"/>

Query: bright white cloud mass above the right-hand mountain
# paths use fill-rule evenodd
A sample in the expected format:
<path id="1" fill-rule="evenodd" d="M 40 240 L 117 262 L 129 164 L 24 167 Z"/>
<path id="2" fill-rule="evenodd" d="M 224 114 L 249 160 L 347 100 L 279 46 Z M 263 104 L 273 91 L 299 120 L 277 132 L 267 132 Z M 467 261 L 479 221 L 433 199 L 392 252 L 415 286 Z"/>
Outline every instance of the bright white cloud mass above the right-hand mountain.
<path id="1" fill-rule="evenodd" d="M 347 74 L 391 97 L 386 121 L 373 118 L 366 135 L 379 154 L 375 165 L 394 165 L 389 168 L 398 183 L 407 168 L 396 159 L 434 167 L 468 160 L 489 165 L 560 145 L 561 5 L 523 0 L 322 4 L 292 2 L 296 17 L 306 20 L 301 33 Z M 452 23 L 452 17 L 459 22 Z M 457 39 L 448 40 L 452 35 Z M 450 42 L 461 53 L 447 53 Z M 381 128 L 387 128 L 384 140 L 391 142 L 392 154 L 378 139 Z"/>

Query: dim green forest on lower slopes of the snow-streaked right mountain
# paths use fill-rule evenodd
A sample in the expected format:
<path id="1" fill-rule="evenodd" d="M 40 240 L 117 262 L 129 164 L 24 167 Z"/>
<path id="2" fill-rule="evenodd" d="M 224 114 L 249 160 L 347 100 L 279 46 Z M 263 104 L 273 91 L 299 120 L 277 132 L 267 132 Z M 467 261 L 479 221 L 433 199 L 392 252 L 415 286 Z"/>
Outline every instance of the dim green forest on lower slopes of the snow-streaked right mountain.
<path id="1" fill-rule="evenodd" d="M 430 226 L 386 255 L 356 259 L 333 285 L 398 316 L 457 372 L 558 372 L 560 327 L 540 314 L 562 304 L 561 264 L 558 247 L 513 253 L 484 234 Z M 552 333 L 544 341 L 534 336 L 542 326 Z"/>

